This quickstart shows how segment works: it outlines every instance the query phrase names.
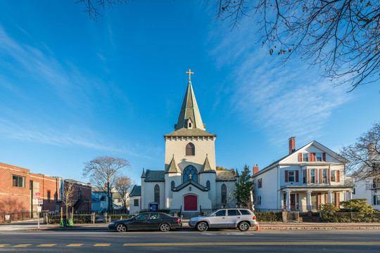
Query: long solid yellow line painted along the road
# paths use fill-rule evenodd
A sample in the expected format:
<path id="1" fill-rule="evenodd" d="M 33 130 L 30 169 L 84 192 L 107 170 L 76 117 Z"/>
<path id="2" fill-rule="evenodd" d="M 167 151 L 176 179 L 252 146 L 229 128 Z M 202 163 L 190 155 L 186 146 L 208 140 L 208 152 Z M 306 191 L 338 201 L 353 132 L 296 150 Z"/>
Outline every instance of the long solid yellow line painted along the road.
<path id="1" fill-rule="evenodd" d="M 125 243 L 123 246 L 223 246 L 223 245 L 380 245 L 380 242 L 163 242 Z"/>

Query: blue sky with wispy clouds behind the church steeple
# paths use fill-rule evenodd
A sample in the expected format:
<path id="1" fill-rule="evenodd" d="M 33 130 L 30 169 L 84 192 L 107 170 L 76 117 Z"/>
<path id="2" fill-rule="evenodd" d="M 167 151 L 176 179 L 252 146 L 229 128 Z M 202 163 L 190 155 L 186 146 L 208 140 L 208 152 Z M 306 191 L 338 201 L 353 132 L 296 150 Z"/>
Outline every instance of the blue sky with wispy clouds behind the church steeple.
<path id="1" fill-rule="evenodd" d="M 204 1 L 130 1 L 90 20 L 75 1 L 0 1 L 0 162 L 82 178 L 97 155 L 123 172 L 164 169 L 191 81 L 217 165 L 260 168 L 316 140 L 332 150 L 379 121 L 380 86 L 346 93 L 294 59 L 279 66 L 246 17 L 215 21 Z"/>

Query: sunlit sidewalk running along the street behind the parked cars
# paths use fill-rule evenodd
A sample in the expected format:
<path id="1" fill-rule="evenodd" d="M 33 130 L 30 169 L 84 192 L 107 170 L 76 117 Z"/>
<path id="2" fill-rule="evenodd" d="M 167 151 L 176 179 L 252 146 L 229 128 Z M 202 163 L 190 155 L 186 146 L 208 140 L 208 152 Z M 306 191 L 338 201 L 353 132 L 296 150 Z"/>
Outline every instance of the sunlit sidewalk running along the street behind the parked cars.
<path id="1" fill-rule="evenodd" d="M 180 230 L 192 230 L 189 226 L 189 220 L 182 220 L 182 228 Z M 319 229 L 333 229 L 333 230 L 352 230 L 352 229 L 376 229 L 380 230 L 380 223 L 259 223 L 260 230 L 319 230 Z M 31 231 L 37 230 L 37 220 L 21 221 L 17 223 L 0 224 L 0 231 Z M 95 224 L 75 224 L 73 227 L 61 228 L 57 224 L 41 224 L 41 230 L 53 231 L 108 231 L 108 223 L 95 223 Z M 255 228 L 251 228 L 255 230 Z"/>

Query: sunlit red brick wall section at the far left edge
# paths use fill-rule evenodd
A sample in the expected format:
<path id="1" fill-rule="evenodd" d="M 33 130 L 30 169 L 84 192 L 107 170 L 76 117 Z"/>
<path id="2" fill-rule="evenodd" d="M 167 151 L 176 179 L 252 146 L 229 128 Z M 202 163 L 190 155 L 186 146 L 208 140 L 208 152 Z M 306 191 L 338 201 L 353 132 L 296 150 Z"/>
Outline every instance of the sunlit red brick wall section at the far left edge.
<path id="1" fill-rule="evenodd" d="M 13 175 L 25 177 L 25 187 L 13 186 Z M 0 162 L 0 212 L 30 212 L 29 169 Z"/>

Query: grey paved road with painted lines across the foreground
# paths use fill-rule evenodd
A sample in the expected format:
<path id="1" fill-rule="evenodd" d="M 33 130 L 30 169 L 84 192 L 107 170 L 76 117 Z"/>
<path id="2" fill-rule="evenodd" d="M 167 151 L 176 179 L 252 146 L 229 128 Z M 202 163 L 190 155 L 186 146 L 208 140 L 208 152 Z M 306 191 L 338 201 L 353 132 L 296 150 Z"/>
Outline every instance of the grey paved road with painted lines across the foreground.
<path id="1" fill-rule="evenodd" d="M 0 252 L 380 252 L 380 231 L 3 231 Z"/>

